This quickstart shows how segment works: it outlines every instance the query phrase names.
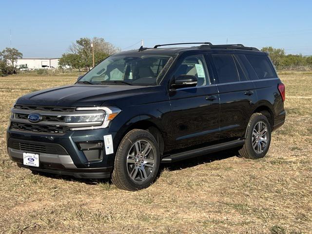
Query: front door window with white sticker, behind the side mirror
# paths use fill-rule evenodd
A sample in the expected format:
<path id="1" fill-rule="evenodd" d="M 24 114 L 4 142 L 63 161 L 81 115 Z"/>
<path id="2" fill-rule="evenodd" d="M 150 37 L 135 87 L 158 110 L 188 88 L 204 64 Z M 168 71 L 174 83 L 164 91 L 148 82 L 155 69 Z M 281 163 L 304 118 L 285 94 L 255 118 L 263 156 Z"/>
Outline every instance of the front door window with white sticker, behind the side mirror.
<path id="1" fill-rule="evenodd" d="M 182 61 L 178 66 L 175 77 L 181 75 L 192 75 L 197 78 L 197 86 L 202 86 L 207 84 L 207 78 L 204 65 L 204 57 L 202 55 L 190 56 Z M 207 74 L 208 77 L 208 74 Z"/>

